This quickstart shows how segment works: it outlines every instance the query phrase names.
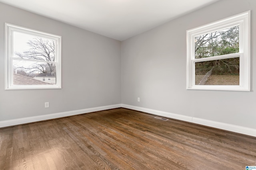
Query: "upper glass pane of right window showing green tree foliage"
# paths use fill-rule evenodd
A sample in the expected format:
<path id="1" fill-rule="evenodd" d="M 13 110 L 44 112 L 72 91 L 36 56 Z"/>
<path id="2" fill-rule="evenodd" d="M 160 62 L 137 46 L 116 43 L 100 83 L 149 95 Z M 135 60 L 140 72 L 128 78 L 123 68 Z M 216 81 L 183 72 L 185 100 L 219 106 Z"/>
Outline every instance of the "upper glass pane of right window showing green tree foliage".
<path id="1" fill-rule="evenodd" d="M 195 59 L 239 53 L 239 25 L 195 37 Z"/>

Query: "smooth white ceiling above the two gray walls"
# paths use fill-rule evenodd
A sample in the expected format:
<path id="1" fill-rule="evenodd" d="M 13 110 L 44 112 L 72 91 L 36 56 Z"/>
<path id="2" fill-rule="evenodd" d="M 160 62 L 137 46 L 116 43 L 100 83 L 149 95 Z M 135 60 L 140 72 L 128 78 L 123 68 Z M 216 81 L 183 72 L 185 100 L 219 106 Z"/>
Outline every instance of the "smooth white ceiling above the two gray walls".
<path id="1" fill-rule="evenodd" d="M 0 0 L 120 41 L 216 1 L 218 0 Z"/>

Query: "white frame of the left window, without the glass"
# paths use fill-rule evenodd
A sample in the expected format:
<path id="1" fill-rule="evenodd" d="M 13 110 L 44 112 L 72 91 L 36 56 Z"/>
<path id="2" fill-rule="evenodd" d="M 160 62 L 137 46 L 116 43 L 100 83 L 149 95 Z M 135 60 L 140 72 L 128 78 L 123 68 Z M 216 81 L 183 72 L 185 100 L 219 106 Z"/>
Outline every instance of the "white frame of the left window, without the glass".
<path id="1" fill-rule="evenodd" d="M 47 63 L 56 64 L 56 84 L 49 85 L 14 85 L 13 84 L 13 33 L 20 32 L 28 35 L 35 35 L 38 37 L 54 39 L 56 42 L 55 47 L 55 61 L 47 61 Z M 19 90 L 19 89 L 60 89 L 61 88 L 61 36 L 17 25 L 5 23 L 5 90 Z M 29 61 L 30 59 L 20 59 Z M 33 60 L 31 60 L 33 61 Z M 35 61 L 35 60 L 34 60 Z M 40 61 L 39 61 L 40 62 Z"/>

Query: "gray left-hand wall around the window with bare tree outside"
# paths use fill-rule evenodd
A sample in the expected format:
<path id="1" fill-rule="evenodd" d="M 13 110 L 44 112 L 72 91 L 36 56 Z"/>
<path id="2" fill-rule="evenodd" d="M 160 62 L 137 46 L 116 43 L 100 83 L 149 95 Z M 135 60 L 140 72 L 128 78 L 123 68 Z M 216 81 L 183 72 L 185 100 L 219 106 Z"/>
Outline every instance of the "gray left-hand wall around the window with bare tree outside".
<path id="1" fill-rule="evenodd" d="M 62 36 L 62 89 L 4 90 L 5 22 Z M 120 41 L 0 3 L 0 121 L 120 104 L 120 55 Z"/>

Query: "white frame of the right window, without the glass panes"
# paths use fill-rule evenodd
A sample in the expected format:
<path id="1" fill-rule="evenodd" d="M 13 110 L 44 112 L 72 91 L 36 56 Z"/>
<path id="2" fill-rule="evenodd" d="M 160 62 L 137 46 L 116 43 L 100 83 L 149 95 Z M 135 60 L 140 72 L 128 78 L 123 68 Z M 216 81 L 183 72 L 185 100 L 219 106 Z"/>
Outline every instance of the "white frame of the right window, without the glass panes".
<path id="1" fill-rule="evenodd" d="M 195 59 L 195 37 L 239 25 L 239 53 Z M 186 31 L 186 89 L 250 91 L 250 11 Z M 239 85 L 195 85 L 195 63 L 240 57 Z"/>

